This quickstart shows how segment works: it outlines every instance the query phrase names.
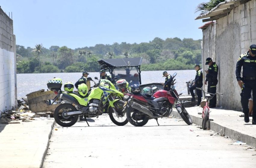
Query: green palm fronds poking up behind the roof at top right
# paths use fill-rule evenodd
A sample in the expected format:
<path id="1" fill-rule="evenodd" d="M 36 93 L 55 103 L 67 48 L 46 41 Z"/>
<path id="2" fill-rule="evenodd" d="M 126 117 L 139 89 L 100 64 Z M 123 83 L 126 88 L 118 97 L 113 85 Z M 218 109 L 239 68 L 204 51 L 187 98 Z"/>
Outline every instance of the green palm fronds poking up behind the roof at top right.
<path id="1" fill-rule="evenodd" d="M 206 14 L 211 11 L 214 7 L 216 7 L 219 3 L 224 2 L 225 0 L 210 0 L 209 2 L 202 2 L 198 4 L 195 12 L 201 11 L 200 15 Z"/>

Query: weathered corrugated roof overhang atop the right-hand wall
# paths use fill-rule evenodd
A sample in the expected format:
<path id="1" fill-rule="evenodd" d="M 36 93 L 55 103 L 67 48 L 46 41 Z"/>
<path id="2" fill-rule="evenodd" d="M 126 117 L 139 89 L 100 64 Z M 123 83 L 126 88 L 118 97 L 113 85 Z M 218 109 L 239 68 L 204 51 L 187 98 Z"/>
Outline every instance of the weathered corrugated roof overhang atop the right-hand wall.
<path id="1" fill-rule="evenodd" d="M 195 18 L 196 19 L 203 19 L 210 17 L 209 20 L 216 20 L 223 16 L 226 16 L 228 12 L 230 12 L 236 6 L 246 3 L 251 0 L 226 0 L 225 2 L 219 3 L 216 7 L 214 7 L 211 11 L 206 14 L 199 15 Z M 209 21 L 206 19 L 206 21 Z"/>

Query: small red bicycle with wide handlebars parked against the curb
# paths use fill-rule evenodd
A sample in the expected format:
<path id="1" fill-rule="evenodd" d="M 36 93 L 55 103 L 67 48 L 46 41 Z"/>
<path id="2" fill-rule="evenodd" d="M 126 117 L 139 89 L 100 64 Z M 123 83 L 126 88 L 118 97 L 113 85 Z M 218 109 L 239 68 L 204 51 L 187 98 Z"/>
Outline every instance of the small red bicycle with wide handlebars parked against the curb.
<path id="1" fill-rule="evenodd" d="M 204 92 L 204 90 L 201 89 L 201 88 L 196 88 L 196 89 L 201 90 L 201 91 Z M 204 92 L 204 97 L 206 98 L 206 104 L 203 107 L 203 112 L 202 112 L 202 118 L 203 118 L 202 128 L 203 128 L 203 130 L 207 129 L 206 124 L 207 124 L 207 122 L 209 120 L 209 113 L 210 113 L 210 107 L 208 106 L 209 100 L 211 100 L 215 95 L 223 95 L 223 93 L 214 93 L 214 94 L 207 93 L 207 94 L 209 94 L 211 96 L 205 96 L 205 93 L 207 93 L 207 92 Z"/>

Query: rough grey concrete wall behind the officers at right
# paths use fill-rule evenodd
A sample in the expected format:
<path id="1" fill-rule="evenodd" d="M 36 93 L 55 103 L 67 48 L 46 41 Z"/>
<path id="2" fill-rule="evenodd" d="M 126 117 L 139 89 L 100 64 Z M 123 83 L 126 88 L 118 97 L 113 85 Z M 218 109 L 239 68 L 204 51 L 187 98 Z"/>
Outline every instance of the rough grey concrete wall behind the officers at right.
<path id="1" fill-rule="evenodd" d="M 219 66 L 217 92 L 223 93 L 217 97 L 219 106 L 242 109 L 241 89 L 235 75 L 236 62 L 251 44 L 256 44 L 256 0 L 239 5 L 203 30 L 204 63 L 207 57 L 211 57 Z"/>

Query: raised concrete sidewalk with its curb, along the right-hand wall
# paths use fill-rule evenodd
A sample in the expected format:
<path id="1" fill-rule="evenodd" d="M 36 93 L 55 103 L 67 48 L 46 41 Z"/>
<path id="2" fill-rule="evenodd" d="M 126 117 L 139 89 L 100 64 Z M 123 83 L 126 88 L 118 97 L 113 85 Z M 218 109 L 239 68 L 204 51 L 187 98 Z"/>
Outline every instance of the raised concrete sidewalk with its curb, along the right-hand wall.
<path id="1" fill-rule="evenodd" d="M 203 109 L 201 107 L 190 107 L 186 110 L 195 124 L 202 125 L 202 115 L 198 114 L 202 113 Z M 256 125 L 251 124 L 252 117 L 250 117 L 249 123 L 245 123 L 244 117 L 239 117 L 241 114 L 243 113 L 238 111 L 212 108 L 210 109 L 210 119 L 213 119 L 213 121 L 210 121 L 210 129 L 256 147 Z M 179 114 L 175 111 L 173 115 L 179 117 Z"/>

